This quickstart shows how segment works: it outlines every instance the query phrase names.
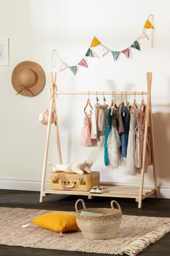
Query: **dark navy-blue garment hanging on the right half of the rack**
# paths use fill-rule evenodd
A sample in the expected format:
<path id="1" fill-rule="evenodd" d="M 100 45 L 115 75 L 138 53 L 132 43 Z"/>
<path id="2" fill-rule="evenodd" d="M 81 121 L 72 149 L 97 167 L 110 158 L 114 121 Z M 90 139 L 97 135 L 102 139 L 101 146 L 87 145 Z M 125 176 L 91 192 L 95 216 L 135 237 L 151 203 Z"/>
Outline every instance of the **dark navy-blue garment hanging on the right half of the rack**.
<path id="1" fill-rule="evenodd" d="M 124 132 L 121 134 L 121 143 L 122 143 L 122 157 L 126 158 L 127 148 L 128 148 L 128 136 L 130 129 L 130 111 L 128 106 L 122 108 L 122 124 L 124 127 Z"/>

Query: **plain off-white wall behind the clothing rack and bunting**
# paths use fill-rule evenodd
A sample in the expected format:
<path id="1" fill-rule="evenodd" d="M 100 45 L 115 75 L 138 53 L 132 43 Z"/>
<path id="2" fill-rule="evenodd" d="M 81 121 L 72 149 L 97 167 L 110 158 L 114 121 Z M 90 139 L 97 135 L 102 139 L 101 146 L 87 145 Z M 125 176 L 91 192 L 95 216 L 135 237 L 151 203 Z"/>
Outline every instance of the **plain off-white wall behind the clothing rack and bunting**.
<path id="1" fill-rule="evenodd" d="M 146 90 L 146 72 L 152 71 L 158 184 L 169 191 L 169 1 L 0 0 L 0 3 L 0 38 L 10 40 L 10 65 L 0 67 L 0 187 L 40 188 L 46 127 L 40 125 L 38 116 L 49 103 L 52 48 L 57 48 L 63 60 L 71 65 L 81 60 L 94 35 L 106 46 L 122 50 L 133 43 L 148 14 L 152 13 L 155 16 L 156 48 L 143 41 L 141 52 L 133 50 L 133 59 L 121 56 L 114 62 L 109 55 L 89 59 L 89 69 L 82 67 L 75 77 L 68 69 L 59 73 L 58 88 L 143 91 Z M 24 60 L 37 61 L 45 70 L 45 89 L 35 98 L 16 95 L 12 88 L 12 70 Z M 107 97 L 109 101 L 110 97 Z M 91 102 L 95 103 L 95 97 L 91 97 Z M 139 175 L 125 176 L 123 168 L 113 170 L 104 166 L 103 145 L 99 148 L 79 146 L 85 103 L 86 96 L 58 97 L 63 162 L 92 160 L 94 170 L 101 172 L 102 182 L 138 184 Z M 52 135 L 49 161 L 55 163 L 55 156 L 55 137 Z M 151 170 L 146 174 L 148 185 L 153 184 L 151 174 Z M 170 197 L 170 193 L 166 193 L 166 197 Z"/>

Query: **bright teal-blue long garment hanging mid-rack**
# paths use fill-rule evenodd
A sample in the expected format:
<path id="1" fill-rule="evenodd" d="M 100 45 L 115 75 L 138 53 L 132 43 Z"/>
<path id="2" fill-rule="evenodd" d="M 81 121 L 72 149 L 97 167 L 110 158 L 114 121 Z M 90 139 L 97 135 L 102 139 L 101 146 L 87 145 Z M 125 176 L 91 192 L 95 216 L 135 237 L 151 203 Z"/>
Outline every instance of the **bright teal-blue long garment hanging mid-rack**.
<path id="1" fill-rule="evenodd" d="M 109 165 L 108 151 L 107 151 L 107 140 L 109 137 L 109 132 L 112 128 L 112 116 L 110 115 L 111 108 L 107 110 L 107 119 L 106 119 L 106 127 L 105 127 L 105 138 L 104 138 L 104 164 L 105 166 Z"/>

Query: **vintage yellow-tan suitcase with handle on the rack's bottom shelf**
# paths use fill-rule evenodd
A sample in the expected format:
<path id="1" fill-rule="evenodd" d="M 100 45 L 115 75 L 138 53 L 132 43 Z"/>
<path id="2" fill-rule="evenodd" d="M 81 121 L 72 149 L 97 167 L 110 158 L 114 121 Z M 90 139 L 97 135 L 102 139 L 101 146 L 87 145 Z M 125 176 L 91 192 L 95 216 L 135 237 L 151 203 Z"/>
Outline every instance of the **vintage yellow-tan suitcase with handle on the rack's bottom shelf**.
<path id="1" fill-rule="evenodd" d="M 50 173 L 50 189 L 89 191 L 94 186 L 99 186 L 99 171 L 91 174 Z"/>

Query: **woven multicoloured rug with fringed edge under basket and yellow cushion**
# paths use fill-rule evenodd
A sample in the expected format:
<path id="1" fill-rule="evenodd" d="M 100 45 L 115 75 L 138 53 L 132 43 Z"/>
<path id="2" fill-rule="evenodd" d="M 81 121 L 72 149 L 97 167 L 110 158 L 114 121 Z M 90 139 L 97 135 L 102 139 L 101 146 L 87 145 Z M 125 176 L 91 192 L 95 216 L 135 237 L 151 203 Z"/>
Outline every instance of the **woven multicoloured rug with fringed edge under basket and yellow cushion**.
<path id="1" fill-rule="evenodd" d="M 22 228 L 49 210 L 0 208 L 0 244 L 10 246 L 94 252 L 109 255 L 137 255 L 170 231 L 170 218 L 123 216 L 115 239 L 84 239 L 81 231 L 58 233 L 37 226 Z"/>

